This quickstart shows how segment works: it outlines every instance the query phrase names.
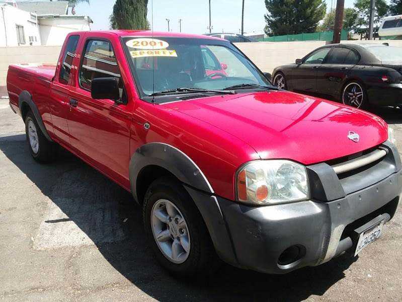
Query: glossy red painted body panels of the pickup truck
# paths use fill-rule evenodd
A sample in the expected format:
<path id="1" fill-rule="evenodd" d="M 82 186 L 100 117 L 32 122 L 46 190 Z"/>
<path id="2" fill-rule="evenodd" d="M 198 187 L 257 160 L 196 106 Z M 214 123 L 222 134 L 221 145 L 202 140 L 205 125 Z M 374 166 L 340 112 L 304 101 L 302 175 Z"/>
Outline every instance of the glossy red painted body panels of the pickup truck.
<path id="1" fill-rule="evenodd" d="M 217 195 L 234 200 L 234 176 L 246 162 L 290 159 L 308 165 L 351 155 L 387 139 L 387 125 L 375 115 L 286 91 L 151 104 L 139 99 L 120 42 L 121 36 L 150 36 L 150 32 L 79 32 L 66 39 L 71 35 L 80 37 L 69 83 L 58 81 L 61 55 L 57 66 L 11 65 L 7 78 L 10 104 L 21 114 L 18 96 L 28 91 L 51 138 L 127 190 L 131 156 L 149 142 L 180 149 L 197 164 Z M 112 43 L 127 105 L 94 100 L 78 85 L 78 66 L 89 38 Z M 71 98 L 78 100 L 77 107 L 69 106 Z M 144 129 L 145 122 L 151 125 L 149 130 Z M 359 143 L 347 138 L 350 130 L 360 134 Z"/>

